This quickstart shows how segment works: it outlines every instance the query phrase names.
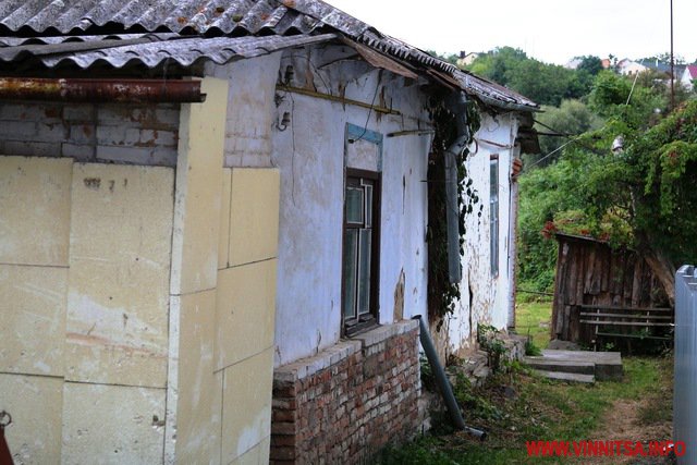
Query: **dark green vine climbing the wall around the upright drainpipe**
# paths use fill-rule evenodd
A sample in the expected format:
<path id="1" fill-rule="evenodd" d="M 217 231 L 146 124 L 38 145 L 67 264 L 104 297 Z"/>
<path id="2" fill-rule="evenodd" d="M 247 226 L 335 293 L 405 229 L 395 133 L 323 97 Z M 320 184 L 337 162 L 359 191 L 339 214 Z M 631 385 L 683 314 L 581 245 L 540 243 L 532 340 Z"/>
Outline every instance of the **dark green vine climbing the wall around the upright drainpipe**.
<path id="1" fill-rule="evenodd" d="M 432 321 L 438 321 L 437 330 L 440 330 L 444 317 L 455 310 L 455 304 L 461 298 L 460 283 L 451 283 L 448 268 L 448 224 L 447 224 L 447 196 L 445 196 L 445 170 L 444 154 L 453 144 L 460 133 L 456 120 L 444 106 L 443 100 L 438 99 L 431 108 L 431 120 L 436 130 L 433 145 L 428 163 L 428 307 Z M 479 130 L 479 111 L 476 103 L 470 100 L 467 105 L 467 134 L 473 142 L 474 134 Z M 464 256 L 465 249 L 465 219 L 467 215 L 475 212 L 479 203 L 477 191 L 473 187 L 473 180 L 467 173 L 465 161 L 469 150 L 457 154 L 457 209 L 460 212 L 460 255 Z M 482 206 L 477 211 L 481 216 Z M 461 265 L 462 267 L 462 265 Z"/>

